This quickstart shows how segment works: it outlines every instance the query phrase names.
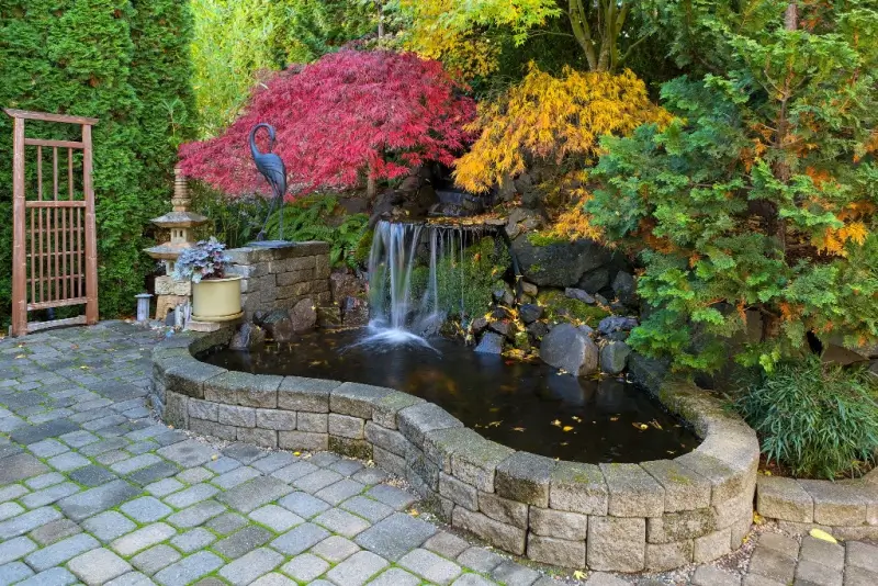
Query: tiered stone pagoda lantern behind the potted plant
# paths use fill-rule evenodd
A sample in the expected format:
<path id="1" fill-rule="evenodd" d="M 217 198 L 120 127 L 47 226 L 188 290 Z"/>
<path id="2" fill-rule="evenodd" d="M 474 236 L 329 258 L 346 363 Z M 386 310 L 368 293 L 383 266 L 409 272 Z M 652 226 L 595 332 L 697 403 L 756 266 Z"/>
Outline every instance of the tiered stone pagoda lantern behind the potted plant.
<path id="1" fill-rule="evenodd" d="M 171 239 L 144 250 L 154 259 L 165 263 L 165 277 L 156 278 L 156 295 L 158 296 L 156 319 L 159 320 L 165 319 L 170 309 L 187 303 L 192 294 L 192 283 L 175 281 L 171 272 L 173 272 L 173 266 L 180 252 L 194 244 L 192 228 L 207 222 L 206 216 L 189 211 L 192 200 L 189 198 L 189 187 L 179 166 L 173 168 L 173 176 L 172 211 L 153 219 L 153 224 L 156 226 L 170 230 Z"/>

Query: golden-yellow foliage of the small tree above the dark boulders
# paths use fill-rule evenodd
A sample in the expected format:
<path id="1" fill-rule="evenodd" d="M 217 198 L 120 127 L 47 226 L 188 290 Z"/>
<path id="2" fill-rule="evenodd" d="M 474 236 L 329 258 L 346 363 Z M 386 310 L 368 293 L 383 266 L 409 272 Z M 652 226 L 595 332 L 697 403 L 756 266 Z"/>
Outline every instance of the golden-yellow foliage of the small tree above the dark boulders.
<path id="1" fill-rule="evenodd" d="M 529 158 L 582 165 L 599 155 L 600 137 L 627 135 L 641 124 L 666 124 L 671 115 L 653 104 L 633 72 L 581 72 L 564 68 L 560 78 L 531 64 L 527 77 L 494 102 L 480 104 L 471 125 L 481 133 L 457 162 L 457 183 L 484 192 L 525 170 Z"/>

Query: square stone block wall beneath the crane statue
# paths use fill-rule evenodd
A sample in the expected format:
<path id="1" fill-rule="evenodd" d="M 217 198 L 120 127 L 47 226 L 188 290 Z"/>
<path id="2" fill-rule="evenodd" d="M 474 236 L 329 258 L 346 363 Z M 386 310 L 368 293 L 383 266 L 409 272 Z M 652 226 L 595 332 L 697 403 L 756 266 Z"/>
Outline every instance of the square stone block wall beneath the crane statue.
<path id="1" fill-rule="evenodd" d="M 329 245 L 295 243 L 285 248 L 233 248 L 226 251 L 241 275 L 241 307 L 247 320 L 256 311 L 292 309 L 302 300 L 329 305 Z"/>

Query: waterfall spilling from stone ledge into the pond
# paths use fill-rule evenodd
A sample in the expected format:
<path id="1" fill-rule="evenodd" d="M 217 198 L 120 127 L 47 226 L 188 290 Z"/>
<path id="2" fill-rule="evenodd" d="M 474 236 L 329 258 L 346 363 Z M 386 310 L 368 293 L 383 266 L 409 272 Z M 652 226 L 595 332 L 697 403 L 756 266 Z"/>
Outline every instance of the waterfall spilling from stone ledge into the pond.
<path id="1" fill-rule="evenodd" d="M 438 271 L 443 260 L 453 259 L 462 289 L 468 234 L 469 230 L 457 226 L 378 223 L 369 255 L 371 335 L 368 340 L 427 345 L 425 338 L 438 333 L 449 311 L 462 312 L 462 297 L 459 307 L 443 306 Z M 417 283 L 424 289 L 419 300 L 413 298 L 416 295 L 413 273 L 418 264 L 429 267 L 426 282 Z"/>

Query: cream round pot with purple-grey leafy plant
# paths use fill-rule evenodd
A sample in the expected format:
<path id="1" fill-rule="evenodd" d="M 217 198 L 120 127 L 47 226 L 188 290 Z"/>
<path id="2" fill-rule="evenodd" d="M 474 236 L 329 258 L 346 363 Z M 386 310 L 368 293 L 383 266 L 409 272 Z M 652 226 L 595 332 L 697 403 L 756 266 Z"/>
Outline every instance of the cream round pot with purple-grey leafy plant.
<path id="1" fill-rule="evenodd" d="M 241 316 L 240 275 L 226 275 L 232 259 L 213 236 L 180 252 L 173 278 L 192 281 L 192 318 L 228 322 Z"/>

